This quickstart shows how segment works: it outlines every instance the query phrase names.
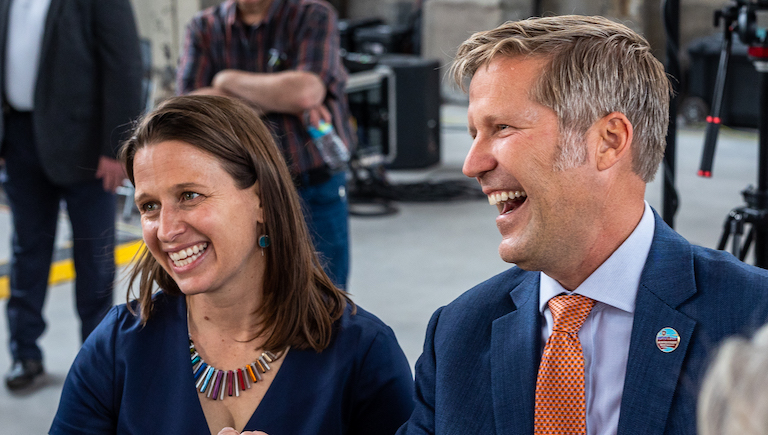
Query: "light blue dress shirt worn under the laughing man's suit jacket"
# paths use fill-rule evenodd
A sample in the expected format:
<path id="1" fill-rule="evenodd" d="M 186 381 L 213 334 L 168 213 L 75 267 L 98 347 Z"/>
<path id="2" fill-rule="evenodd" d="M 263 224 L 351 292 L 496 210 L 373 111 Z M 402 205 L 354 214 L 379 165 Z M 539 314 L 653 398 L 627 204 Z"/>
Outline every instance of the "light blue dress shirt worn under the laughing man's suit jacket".
<path id="1" fill-rule="evenodd" d="M 584 351 L 588 435 L 615 434 L 618 429 L 635 298 L 654 229 L 653 212 L 646 202 L 643 217 L 632 234 L 573 292 L 541 273 L 542 343 L 552 334 L 552 313 L 547 305 L 550 299 L 577 293 L 595 300 L 579 330 Z"/>

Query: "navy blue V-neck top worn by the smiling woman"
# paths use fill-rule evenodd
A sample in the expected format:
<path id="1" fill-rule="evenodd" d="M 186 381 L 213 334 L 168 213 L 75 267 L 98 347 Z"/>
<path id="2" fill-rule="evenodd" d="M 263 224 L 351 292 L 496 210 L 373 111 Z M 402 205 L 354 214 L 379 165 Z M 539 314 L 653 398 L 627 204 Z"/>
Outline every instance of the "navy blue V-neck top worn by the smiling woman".
<path id="1" fill-rule="evenodd" d="M 392 329 L 360 307 L 334 326 L 322 352 L 286 354 L 245 430 L 390 435 L 408 419 L 413 378 Z M 50 433 L 208 433 L 184 297 L 160 292 L 144 327 L 125 305 L 109 312 L 72 364 Z"/>

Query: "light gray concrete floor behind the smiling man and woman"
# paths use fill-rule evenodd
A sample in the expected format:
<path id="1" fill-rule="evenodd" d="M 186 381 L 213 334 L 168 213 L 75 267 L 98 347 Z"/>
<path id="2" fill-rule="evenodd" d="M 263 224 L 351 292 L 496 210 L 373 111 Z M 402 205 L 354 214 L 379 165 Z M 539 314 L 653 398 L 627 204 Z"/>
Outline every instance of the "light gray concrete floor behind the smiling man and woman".
<path id="1" fill-rule="evenodd" d="M 392 183 L 463 179 L 461 165 L 471 144 L 466 133 L 466 108 L 442 108 L 441 163 L 424 170 L 389 171 Z M 728 211 L 742 205 L 740 191 L 754 184 L 757 134 L 724 129 L 715 157 L 715 175 L 695 175 L 703 145 L 703 128 L 688 127 L 678 135 L 678 231 L 694 243 L 714 247 Z M 647 200 L 661 210 L 659 180 L 647 189 Z M 352 217 L 353 299 L 377 314 L 397 334 L 413 365 L 421 353 L 424 330 L 432 312 L 474 284 L 506 269 L 497 255 L 500 236 L 494 224 L 496 208 L 484 199 L 446 202 L 400 202 L 398 212 L 384 217 Z M 0 260 L 8 259 L 10 219 L 0 208 Z M 137 234 L 133 224 L 120 224 L 123 237 Z M 65 219 L 59 243 L 67 244 Z M 140 233 L 139 233 L 140 234 Z M 118 284 L 116 302 L 125 300 Z M 78 346 L 78 320 L 71 283 L 49 291 L 45 316 L 49 327 L 42 337 L 47 375 L 38 388 L 12 394 L 0 386 L 0 435 L 47 433 L 59 393 Z M 0 302 L 0 337 L 7 337 L 5 302 Z M 5 343 L 0 347 L 0 372 L 10 365 Z"/>

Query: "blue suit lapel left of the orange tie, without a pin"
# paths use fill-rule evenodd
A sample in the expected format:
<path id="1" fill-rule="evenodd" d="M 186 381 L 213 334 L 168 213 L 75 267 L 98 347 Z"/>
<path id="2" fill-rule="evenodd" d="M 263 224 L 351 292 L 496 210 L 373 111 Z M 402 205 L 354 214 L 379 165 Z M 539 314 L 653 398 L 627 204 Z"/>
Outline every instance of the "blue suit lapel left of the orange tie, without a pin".
<path id="1" fill-rule="evenodd" d="M 515 310 L 493 322 L 491 392 L 497 434 L 533 433 L 536 373 L 541 359 L 539 274 L 510 292 Z"/>

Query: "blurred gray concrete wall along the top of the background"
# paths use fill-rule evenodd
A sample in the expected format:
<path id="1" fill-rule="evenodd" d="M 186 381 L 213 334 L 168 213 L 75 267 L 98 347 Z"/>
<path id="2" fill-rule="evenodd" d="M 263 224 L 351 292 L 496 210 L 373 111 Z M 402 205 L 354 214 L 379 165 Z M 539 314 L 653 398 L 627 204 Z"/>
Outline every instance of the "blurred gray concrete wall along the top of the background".
<path id="1" fill-rule="evenodd" d="M 198 10 L 218 0 L 132 0 L 141 35 L 152 42 L 155 99 L 173 93 L 173 69 L 183 44 L 184 26 Z M 476 31 L 491 29 L 506 20 L 535 14 L 533 0 L 332 0 L 344 18 L 380 17 L 389 24 L 404 23 L 405 17 L 423 2 L 422 55 L 438 59 L 443 69 L 456 48 Z M 663 0 L 540 0 L 545 14 L 604 15 L 626 23 L 651 42 L 664 58 L 665 35 L 661 20 Z M 712 25 L 715 9 L 725 0 L 681 1 L 681 40 L 684 47 L 694 38 L 718 32 Z M 444 77 L 444 75 L 442 75 Z M 463 101 L 466 97 L 444 77 L 443 95 Z"/>

